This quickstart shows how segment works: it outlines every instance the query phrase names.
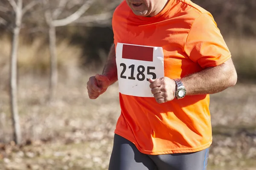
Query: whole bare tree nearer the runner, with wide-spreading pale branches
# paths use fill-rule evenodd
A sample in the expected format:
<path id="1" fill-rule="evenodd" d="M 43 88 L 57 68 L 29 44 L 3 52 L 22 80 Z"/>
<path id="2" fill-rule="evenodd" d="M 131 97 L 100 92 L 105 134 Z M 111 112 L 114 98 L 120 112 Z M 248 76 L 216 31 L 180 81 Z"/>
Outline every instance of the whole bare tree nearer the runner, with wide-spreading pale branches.
<path id="1" fill-rule="evenodd" d="M 49 101 L 55 99 L 56 88 L 58 83 L 58 63 L 57 63 L 57 54 L 56 54 L 56 27 L 67 26 L 71 23 L 88 23 L 96 20 L 107 20 L 112 17 L 110 13 L 98 14 L 93 16 L 81 16 L 90 8 L 90 6 L 96 2 L 96 0 L 86 0 L 81 3 L 81 7 L 75 11 L 73 14 L 68 15 L 63 19 L 58 19 L 60 14 L 64 11 L 64 8 L 67 6 L 68 0 L 59 0 L 58 7 L 54 10 L 50 5 L 49 0 L 44 0 L 45 8 L 45 18 L 49 26 L 49 51 L 50 51 L 50 81 L 49 81 Z M 113 4 L 112 4 L 113 5 Z M 81 19 L 80 19 L 81 18 Z M 80 20 L 79 20 L 80 19 Z"/>

